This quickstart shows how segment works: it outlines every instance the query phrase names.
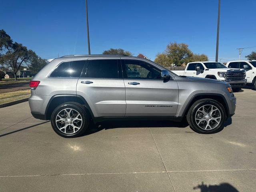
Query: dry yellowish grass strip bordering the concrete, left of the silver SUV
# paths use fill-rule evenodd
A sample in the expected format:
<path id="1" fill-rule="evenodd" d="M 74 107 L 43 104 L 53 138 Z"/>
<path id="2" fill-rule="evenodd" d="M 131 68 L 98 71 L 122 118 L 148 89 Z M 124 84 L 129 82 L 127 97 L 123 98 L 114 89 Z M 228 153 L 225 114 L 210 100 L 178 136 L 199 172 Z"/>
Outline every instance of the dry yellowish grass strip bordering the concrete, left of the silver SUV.
<path id="1" fill-rule="evenodd" d="M 1 93 L 0 104 L 16 101 L 20 99 L 25 99 L 29 97 L 30 97 L 30 89 Z"/>

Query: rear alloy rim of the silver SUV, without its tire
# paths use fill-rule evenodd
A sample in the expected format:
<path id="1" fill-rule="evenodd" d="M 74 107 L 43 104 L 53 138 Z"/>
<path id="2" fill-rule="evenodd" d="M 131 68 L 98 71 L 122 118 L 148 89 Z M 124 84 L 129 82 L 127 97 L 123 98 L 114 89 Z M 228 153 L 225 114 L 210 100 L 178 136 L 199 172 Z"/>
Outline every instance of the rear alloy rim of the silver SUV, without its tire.
<path id="1" fill-rule="evenodd" d="M 78 111 L 66 108 L 57 114 L 55 122 L 61 132 L 74 134 L 81 128 L 83 120 Z"/>

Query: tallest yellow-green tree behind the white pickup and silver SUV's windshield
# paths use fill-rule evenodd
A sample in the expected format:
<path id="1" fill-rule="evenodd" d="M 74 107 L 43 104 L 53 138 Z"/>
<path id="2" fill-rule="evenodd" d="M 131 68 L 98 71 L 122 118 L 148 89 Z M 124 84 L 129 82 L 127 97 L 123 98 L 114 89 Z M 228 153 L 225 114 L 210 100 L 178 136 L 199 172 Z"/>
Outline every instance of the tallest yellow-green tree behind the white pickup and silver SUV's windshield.
<path id="1" fill-rule="evenodd" d="M 170 58 L 173 64 L 181 66 L 189 61 L 193 53 L 189 50 L 188 45 L 184 43 L 170 43 L 166 46 L 165 54 Z"/>

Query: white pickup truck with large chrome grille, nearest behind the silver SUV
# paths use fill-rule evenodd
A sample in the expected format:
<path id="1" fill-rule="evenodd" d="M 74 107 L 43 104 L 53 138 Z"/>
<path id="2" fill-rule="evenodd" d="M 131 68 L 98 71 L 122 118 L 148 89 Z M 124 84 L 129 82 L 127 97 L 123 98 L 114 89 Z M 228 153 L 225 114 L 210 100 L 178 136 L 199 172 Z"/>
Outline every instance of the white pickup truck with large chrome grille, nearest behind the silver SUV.
<path id="1" fill-rule="evenodd" d="M 246 71 L 239 68 L 228 68 L 220 62 L 190 62 L 185 70 L 173 70 L 179 76 L 202 77 L 228 82 L 234 91 L 246 84 Z"/>

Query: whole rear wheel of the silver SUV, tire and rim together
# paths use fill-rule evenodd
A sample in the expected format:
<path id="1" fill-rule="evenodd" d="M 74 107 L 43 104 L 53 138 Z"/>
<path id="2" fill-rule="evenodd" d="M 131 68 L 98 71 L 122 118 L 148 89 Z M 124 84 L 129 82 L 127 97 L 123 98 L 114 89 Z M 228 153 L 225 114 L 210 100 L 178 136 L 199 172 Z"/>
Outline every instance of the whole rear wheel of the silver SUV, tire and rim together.
<path id="1" fill-rule="evenodd" d="M 57 106 L 52 112 L 53 130 L 65 138 L 74 138 L 84 134 L 90 118 L 82 106 L 76 102 L 66 102 Z"/>

